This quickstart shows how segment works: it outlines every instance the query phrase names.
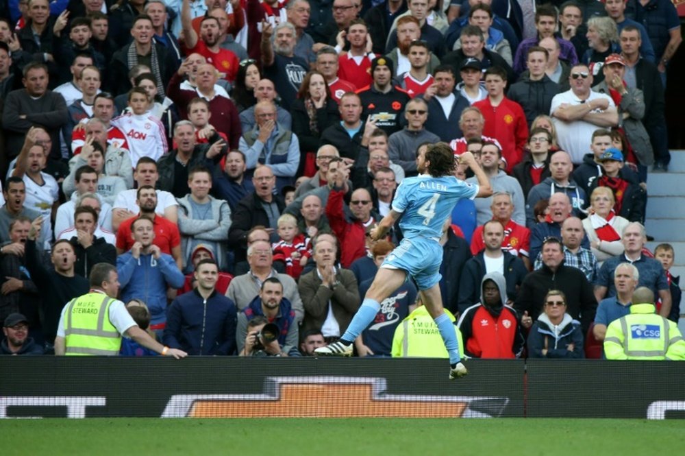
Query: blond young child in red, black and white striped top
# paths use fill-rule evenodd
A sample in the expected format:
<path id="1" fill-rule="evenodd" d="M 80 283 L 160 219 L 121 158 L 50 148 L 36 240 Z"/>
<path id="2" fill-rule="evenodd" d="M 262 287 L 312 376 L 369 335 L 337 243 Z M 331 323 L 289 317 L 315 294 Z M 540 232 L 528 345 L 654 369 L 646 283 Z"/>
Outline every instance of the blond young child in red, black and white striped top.
<path id="1" fill-rule="evenodd" d="M 273 243 L 273 262 L 282 261 L 286 265 L 286 274 L 299 278 L 302 269 L 312 256 L 311 242 L 297 228 L 297 219 L 284 214 L 278 218 L 278 235 L 280 240 Z"/>

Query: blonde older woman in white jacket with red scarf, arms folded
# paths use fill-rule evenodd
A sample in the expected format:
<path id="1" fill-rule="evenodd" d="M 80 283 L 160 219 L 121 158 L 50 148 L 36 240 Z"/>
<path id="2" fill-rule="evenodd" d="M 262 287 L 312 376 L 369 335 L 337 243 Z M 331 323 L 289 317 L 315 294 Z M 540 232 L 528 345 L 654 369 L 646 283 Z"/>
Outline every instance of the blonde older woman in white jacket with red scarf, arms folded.
<path id="1" fill-rule="evenodd" d="M 614 202 L 614 193 L 609 187 L 597 187 L 590 195 L 590 215 L 583 220 L 590 248 L 600 263 L 623 253 L 621 233 L 630 223 L 614 213 Z"/>

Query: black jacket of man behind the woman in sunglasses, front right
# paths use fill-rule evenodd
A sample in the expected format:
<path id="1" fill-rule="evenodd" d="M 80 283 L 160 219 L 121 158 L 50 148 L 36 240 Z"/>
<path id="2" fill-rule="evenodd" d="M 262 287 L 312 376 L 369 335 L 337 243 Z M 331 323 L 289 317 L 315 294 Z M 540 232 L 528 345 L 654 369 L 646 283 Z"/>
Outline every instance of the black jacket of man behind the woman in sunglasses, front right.
<path id="1" fill-rule="evenodd" d="M 543 312 L 545 296 L 549 290 L 561 290 L 566 295 L 566 313 L 579 320 L 585 335 L 590 324 L 595 321 L 597 300 L 593 286 L 585 274 L 575 267 L 563 263 L 556 272 L 543 265 L 540 269 L 528 274 L 523 279 L 519 296 L 514 302 L 514 309 L 523 315 L 527 312 L 533 321 Z"/>

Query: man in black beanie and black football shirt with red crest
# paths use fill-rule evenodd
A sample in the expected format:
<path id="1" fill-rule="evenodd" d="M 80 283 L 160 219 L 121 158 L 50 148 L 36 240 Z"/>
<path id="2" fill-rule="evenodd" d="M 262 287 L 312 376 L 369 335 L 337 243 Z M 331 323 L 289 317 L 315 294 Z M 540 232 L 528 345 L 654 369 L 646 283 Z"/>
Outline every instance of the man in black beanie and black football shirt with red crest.
<path id="1" fill-rule="evenodd" d="M 375 121 L 375 126 L 390 136 L 401 130 L 400 112 L 411 98 L 393 85 L 393 62 L 390 60 L 384 57 L 373 60 L 371 77 L 373 84 L 358 92 L 364 108 L 362 117 Z"/>

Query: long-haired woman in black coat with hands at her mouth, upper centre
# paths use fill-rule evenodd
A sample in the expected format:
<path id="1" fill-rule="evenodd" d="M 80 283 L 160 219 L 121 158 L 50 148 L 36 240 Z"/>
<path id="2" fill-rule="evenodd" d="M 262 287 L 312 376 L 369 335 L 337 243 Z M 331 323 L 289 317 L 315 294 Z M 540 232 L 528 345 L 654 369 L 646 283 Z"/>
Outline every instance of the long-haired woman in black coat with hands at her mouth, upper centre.
<path id="1" fill-rule="evenodd" d="M 297 99 L 292 102 L 291 114 L 292 132 L 297 134 L 301 151 L 298 175 L 314 176 L 321 133 L 340 121 L 338 104 L 331 97 L 328 84 L 319 71 L 305 75 Z"/>

